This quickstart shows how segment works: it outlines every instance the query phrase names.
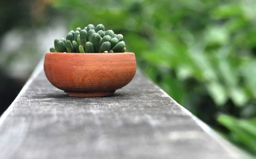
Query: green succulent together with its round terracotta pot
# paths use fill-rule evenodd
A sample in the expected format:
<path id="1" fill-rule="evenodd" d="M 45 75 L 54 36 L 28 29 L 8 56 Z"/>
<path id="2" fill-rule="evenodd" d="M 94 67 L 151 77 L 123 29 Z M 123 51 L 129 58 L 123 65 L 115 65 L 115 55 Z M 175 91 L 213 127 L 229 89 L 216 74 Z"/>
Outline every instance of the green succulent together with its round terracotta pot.
<path id="1" fill-rule="evenodd" d="M 45 74 L 69 96 L 111 96 L 136 73 L 135 55 L 125 50 L 121 34 L 90 24 L 54 40 L 54 48 L 45 55 Z"/>

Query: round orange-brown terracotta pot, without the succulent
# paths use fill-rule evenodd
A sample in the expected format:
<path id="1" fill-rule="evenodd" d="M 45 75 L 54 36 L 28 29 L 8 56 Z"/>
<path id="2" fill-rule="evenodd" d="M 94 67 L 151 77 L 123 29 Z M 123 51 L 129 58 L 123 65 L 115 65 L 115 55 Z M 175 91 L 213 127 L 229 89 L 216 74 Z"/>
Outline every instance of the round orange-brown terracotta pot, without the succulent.
<path id="1" fill-rule="evenodd" d="M 111 96 L 133 79 L 136 58 L 134 53 L 46 53 L 44 70 L 69 96 Z"/>

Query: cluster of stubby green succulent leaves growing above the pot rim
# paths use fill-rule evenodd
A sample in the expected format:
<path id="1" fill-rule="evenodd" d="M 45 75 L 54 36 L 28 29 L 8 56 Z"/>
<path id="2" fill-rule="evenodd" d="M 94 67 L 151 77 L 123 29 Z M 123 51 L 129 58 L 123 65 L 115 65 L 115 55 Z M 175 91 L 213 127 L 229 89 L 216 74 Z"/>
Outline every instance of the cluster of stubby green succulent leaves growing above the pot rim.
<path id="1" fill-rule="evenodd" d="M 62 53 L 123 53 L 125 50 L 123 35 L 105 31 L 102 24 L 71 30 L 66 38 L 55 39 L 54 48 L 50 48 L 50 52 Z"/>

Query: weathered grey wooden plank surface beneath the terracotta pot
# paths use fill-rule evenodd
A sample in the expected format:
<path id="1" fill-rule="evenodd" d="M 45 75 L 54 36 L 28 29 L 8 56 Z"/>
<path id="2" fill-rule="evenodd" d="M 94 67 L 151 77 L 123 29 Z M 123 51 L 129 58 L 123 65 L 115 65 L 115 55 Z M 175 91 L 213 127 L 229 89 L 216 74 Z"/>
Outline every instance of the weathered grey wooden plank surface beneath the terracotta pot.
<path id="1" fill-rule="evenodd" d="M 113 97 L 74 98 L 40 65 L 0 124 L 0 158 L 243 158 L 140 71 Z"/>

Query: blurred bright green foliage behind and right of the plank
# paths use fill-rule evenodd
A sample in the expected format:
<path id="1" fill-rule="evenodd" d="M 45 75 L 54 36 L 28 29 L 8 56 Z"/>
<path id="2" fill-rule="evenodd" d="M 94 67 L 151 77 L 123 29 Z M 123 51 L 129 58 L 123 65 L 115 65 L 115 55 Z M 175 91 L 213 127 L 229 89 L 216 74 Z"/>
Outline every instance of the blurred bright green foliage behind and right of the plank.
<path id="1" fill-rule="evenodd" d="M 256 1 L 37 2 L 51 4 L 69 29 L 102 23 L 123 34 L 165 92 L 256 155 Z"/>

